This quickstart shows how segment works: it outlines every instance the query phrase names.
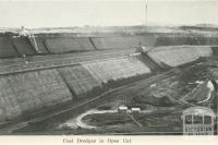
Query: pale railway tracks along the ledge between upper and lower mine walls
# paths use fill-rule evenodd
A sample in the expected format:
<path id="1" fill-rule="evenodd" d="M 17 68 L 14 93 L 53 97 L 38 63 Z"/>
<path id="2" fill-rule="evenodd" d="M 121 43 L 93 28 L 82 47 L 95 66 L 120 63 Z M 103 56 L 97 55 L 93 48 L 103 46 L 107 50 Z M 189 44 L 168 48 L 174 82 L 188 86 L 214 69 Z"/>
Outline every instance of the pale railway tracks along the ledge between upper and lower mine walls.
<path id="1" fill-rule="evenodd" d="M 133 50 L 126 51 L 98 51 L 96 56 L 94 55 L 81 55 L 78 57 L 69 57 L 66 58 L 50 58 L 48 60 L 40 60 L 41 57 L 35 58 L 35 60 L 29 60 L 29 58 L 24 58 L 17 62 L 16 64 L 7 64 L 0 65 L 0 75 L 21 73 L 21 72 L 29 72 L 36 70 L 45 70 L 45 69 L 53 69 L 60 67 L 69 67 L 75 65 L 81 62 L 89 62 L 89 61 L 99 61 L 99 60 L 109 60 L 112 58 L 123 58 L 129 53 L 133 52 Z M 60 56 L 61 57 L 61 56 Z"/>

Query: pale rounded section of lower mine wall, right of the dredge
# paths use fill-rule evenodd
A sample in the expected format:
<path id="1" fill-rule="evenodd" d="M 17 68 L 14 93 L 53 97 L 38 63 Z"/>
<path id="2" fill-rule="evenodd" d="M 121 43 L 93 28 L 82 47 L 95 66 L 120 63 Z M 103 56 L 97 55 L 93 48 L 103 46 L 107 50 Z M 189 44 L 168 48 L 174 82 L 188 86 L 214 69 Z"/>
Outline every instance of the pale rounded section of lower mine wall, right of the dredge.
<path id="1" fill-rule="evenodd" d="M 170 46 L 170 47 L 156 47 L 148 51 L 148 56 L 158 62 L 169 67 L 178 67 L 199 58 L 211 57 L 213 47 L 210 46 Z"/>

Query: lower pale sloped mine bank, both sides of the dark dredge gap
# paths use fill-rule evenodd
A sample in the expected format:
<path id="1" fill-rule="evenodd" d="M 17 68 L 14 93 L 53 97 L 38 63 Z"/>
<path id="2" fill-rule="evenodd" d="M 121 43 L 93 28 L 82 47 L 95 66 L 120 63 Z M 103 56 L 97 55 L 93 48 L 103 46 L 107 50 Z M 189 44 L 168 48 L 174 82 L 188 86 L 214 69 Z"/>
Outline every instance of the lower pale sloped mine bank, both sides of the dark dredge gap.
<path id="1" fill-rule="evenodd" d="M 156 65 L 164 62 L 174 68 L 201 57 L 211 57 L 213 49 L 206 46 L 158 47 L 147 55 L 157 62 Z M 66 101 L 76 104 L 150 74 L 152 68 L 142 60 L 124 57 L 1 75 L 0 121 L 13 120 L 26 112 L 40 112 Z"/>

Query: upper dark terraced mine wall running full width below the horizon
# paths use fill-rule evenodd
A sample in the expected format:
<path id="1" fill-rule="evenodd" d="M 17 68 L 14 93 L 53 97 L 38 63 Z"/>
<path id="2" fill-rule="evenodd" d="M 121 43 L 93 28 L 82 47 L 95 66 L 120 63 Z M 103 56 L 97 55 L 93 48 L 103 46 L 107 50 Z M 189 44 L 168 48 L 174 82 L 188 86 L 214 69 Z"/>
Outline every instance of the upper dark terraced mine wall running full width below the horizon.
<path id="1" fill-rule="evenodd" d="M 138 44 L 147 47 L 180 45 L 218 45 L 217 36 L 196 34 L 35 34 L 17 37 L 0 34 L 0 58 L 36 55 L 96 51 L 106 49 L 135 49 Z"/>

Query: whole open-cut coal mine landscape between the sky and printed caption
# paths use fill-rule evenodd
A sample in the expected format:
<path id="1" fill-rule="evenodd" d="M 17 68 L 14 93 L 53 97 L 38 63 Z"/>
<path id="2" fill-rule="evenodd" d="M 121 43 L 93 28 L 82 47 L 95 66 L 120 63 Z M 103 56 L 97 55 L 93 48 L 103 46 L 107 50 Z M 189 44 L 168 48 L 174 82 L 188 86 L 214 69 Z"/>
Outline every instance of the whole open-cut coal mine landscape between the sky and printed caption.
<path id="1" fill-rule="evenodd" d="M 0 134 L 217 134 L 217 93 L 215 27 L 0 31 Z"/>

